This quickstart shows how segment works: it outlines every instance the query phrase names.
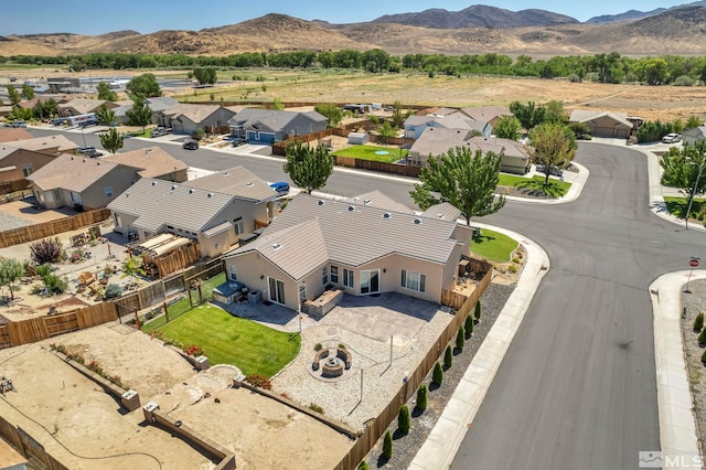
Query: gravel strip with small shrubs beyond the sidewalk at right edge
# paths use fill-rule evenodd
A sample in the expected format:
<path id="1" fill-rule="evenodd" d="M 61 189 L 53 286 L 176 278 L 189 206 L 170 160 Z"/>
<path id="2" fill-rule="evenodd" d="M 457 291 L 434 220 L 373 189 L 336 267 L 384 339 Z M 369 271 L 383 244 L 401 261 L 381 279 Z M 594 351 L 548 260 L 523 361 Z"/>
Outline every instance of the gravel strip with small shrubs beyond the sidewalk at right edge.
<path id="1" fill-rule="evenodd" d="M 706 299 L 706 279 L 693 280 L 688 284 L 692 293 L 682 292 L 682 306 L 686 316 L 682 316 L 682 338 L 684 354 L 688 366 L 689 388 L 696 409 L 696 427 L 702 449 L 706 449 L 706 368 L 702 364 L 704 349 L 698 345 L 698 333 L 694 331 L 694 319 L 704 312 Z M 683 310 L 684 311 L 684 310 Z"/>

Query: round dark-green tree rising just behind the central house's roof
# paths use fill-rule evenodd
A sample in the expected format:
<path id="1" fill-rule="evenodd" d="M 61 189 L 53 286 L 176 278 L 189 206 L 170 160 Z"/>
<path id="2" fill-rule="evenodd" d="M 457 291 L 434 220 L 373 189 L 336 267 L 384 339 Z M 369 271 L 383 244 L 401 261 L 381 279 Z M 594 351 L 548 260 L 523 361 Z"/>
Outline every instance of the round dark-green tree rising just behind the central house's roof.
<path id="1" fill-rule="evenodd" d="M 297 141 L 287 146 L 285 156 L 285 173 L 309 194 L 325 186 L 327 180 L 333 173 L 333 158 L 324 146 L 312 148 Z"/>

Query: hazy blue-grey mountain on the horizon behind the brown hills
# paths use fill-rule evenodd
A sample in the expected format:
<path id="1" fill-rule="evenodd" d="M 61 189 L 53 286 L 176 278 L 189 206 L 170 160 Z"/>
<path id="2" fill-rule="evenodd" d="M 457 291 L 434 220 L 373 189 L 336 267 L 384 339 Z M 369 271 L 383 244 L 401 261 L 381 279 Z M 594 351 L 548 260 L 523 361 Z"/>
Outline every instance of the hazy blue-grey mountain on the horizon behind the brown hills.
<path id="1" fill-rule="evenodd" d="M 574 24 L 578 20 L 546 10 L 510 11 L 502 8 L 474 4 L 461 11 L 429 9 L 419 13 L 386 14 L 372 23 L 398 23 L 435 29 L 547 26 Z"/>

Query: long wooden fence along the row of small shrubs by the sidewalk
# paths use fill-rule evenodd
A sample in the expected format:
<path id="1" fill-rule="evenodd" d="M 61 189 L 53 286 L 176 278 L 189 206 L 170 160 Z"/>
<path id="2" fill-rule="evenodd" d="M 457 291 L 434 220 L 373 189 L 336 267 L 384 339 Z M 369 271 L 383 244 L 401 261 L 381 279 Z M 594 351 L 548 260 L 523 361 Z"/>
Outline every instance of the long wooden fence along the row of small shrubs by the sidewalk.
<path id="1" fill-rule="evenodd" d="M 481 298 L 483 291 L 488 288 L 493 277 L 493 270 L 489 269 L 485 276 L 481 279 L 478 288 L 466 299 L 466 302 L 459 308 L 451 322 L 441 332 L 437 341 L 429 348 L 427 355 L 421 360 L 415 372 L 409 376 L 407 382 L 403 384 L 397 394 L 387 404 L 385 409 L 372 421 L 363 431 L 361 437 L 357 438 L 351 450 L 341 459 L 341 461 L 334 467 L 334 470 L 352 470 L 367 456 L 371 449 L 385 434 L 387 427 L 397 419 L 399 414 L 399 407 L 407 403 L 413 393 L 417 391 L 417 387 L 424 382 L 429 374 L 429 371 L 434 368 L 435 364 L 446 350 L 447 344 L 456 339 L 459 328 L 466 322 L 466 318 L 469 312 L 475 306 L 478 299 Z"/>

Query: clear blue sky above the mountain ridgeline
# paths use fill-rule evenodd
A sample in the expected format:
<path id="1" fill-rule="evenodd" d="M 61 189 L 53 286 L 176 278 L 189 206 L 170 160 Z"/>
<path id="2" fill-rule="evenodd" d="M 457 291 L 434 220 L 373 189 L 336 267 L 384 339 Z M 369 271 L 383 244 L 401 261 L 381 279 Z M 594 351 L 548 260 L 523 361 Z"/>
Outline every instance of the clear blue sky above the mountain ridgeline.
<path id="1" fill-rule="evenodd" d="M 542 9 L 573 17 L 579 21 L 628 10 L 650 11 L 683 1 L 566 1 L 503 0 L 485 2 L 512 11 Z M 331 23 L 371 21 L 383 14 L 443 8 L 458 11 L 472 1 L 459 0 L 2 0 L 0 35 L 71 32 L 103 34 L 135 30 L 147 34 L 160 30 L 193 30 L 239 23 L 267 13 L 284 13 L 302 20 Z"/>

